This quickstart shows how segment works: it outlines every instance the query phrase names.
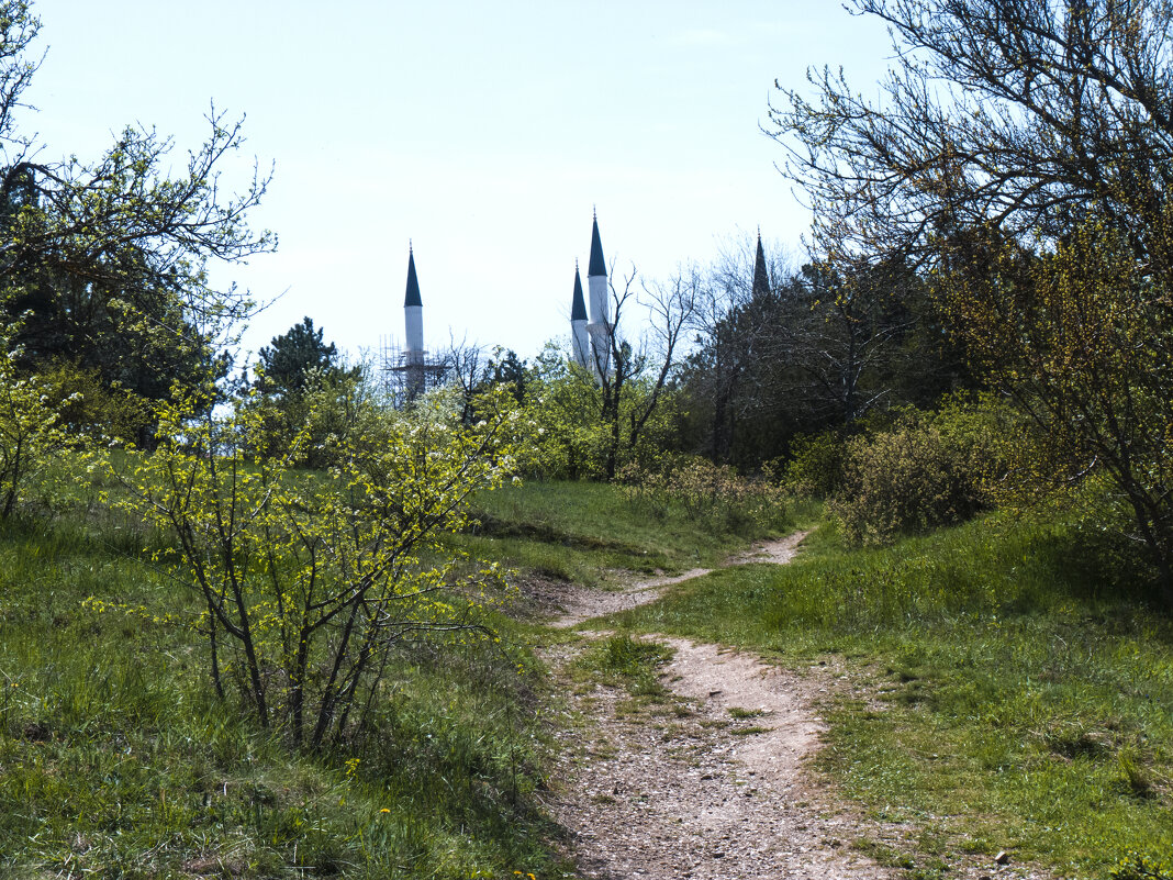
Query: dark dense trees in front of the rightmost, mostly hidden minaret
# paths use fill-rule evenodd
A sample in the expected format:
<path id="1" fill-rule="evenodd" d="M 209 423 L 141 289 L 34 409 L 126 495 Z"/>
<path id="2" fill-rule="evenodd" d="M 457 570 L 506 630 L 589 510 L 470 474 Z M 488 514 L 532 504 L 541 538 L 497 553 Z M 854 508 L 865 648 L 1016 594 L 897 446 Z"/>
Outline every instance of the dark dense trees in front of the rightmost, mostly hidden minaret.
<path id="1" fill-rule="evenodd" d="M 924 283 L 903 262 L 775 263 L 774 283 L 752 286 L 750 265 L 711 270 L 712 305 L 684 373 L 692 442 L 714 460 L 760 467 L 787 455 L 796 434 L 931 402 L 964 381 Z"/>

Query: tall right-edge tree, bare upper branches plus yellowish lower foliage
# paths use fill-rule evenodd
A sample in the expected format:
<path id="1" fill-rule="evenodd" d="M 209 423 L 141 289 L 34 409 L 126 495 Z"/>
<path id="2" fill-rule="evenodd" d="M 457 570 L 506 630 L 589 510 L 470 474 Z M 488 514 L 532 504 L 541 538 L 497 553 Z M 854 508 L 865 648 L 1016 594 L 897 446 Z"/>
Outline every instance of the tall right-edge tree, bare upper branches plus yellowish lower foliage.
<path id="1" fill-rule="evenodd" d="M 1043 438 L 1019 478 L 1106 473 L 1173 605 L 1173 4 L 853 5 L 893 35 L 881 97 L 823 69 L 772 111 L 816 242 L 931 269 Z"/>

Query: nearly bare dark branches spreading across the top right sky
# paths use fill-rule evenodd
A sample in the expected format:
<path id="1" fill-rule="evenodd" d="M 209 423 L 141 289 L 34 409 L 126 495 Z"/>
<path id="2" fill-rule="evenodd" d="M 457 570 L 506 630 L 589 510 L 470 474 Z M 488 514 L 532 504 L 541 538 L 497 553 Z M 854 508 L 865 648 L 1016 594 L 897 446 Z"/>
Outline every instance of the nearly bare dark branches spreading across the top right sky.
<path id="1" fill-rule="evenodd" d="M 1152 251 L 1173 184 L 1166 0 L 853 0 L 894 66 L 870 100 L 842 72 L 772 108 L 786 172 L 814 199 L 832 258 L 911 253 L 991 226 L 1062 238 L 1089 210 Z"/>

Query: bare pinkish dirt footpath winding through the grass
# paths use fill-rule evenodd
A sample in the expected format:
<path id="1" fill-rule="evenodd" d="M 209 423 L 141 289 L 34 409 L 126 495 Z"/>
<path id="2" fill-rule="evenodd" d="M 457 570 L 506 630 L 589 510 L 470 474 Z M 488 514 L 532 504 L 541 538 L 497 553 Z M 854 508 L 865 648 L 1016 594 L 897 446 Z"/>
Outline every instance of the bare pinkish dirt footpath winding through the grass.
<path id="1" fill-rule="evenodd" d="M 730 564 L 785 563 L 802 537 L 762 544 Z M 531 597 L 556 601 L 554 625 L 572 627 L 652 602 L 666 587 L 705 573 L 613 593 L 574 588 L 555 600 L 548 589 Z M 548 804 L 568 832 L 567 855 L 577 876 L 907 876 L 867 854 L 907 851 L 901 846 L 907 830 L 867 820 L 811 769 L 825 730 L 818 705 L 832 691 L 852 688 L 841 670 L 786 670 L 719 645 L 649 638 L 674 650 L 660 676 L 670 691 L 665 700 L 632 699 L 602 684 L 576 691 L 564 670 L 582 644 L 548 657 L 555 675 L 564 677 L 571 712 L 582 719 L 560 735 L 562 784 Z M 981 862 L 955 862 L 949 875 L 1044 876 L 1025 866 Z"/>

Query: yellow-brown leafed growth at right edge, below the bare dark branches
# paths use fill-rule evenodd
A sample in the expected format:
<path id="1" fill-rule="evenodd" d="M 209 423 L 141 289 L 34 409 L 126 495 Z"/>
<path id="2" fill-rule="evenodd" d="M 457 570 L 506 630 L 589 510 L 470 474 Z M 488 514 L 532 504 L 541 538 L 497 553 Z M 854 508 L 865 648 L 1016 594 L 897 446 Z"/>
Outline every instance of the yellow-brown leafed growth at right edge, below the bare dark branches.
<path id="1" fill-rule="evenodd" d="M 1018 494 L 1106 473 L 1173 607 L 1173 291 L 1092 218 L 1053 249 L 991 238 L 970 259 L 942 285 L 976 363 L 1036 428 Z"/>

